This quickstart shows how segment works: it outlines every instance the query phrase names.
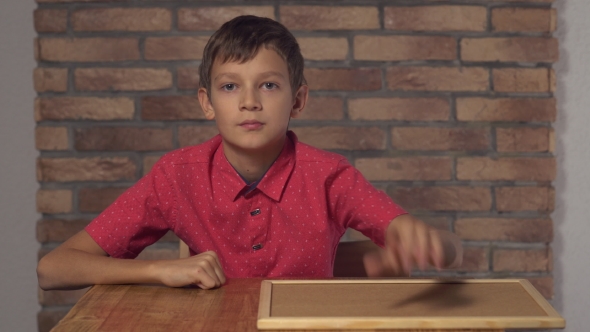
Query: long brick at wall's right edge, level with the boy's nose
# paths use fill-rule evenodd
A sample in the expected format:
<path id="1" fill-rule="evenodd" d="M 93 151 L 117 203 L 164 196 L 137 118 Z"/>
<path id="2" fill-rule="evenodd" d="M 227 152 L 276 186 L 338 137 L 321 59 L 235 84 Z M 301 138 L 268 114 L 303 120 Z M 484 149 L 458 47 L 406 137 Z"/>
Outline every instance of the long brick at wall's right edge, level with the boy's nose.
<path id="1" fill-rule="evenodd" d="M 459 121 L 553 122 L 553 98 L 457 98 Z"/>

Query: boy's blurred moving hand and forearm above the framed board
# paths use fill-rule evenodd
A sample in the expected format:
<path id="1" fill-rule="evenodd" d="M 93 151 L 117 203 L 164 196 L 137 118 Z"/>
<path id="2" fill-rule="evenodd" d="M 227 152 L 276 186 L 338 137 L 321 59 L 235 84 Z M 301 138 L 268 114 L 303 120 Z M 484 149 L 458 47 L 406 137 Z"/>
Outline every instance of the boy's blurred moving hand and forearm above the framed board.
<path id="1" fill-rule="evenodd" d="M 365 256 L 369 277 L 409 276 L 413 267 L 455 268 L 463 262 L 463 246 L 451 232 L 434 229 L 404 214 L 387 227 L 385 249 Z"/>

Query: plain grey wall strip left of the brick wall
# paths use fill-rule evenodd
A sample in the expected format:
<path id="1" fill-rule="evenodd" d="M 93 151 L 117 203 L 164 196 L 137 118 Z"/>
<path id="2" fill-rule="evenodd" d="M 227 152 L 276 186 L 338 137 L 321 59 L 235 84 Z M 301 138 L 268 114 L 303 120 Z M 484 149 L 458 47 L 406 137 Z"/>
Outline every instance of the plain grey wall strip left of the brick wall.
<path id="1" fill-rule="evenodd" d="M 0 1 L 0 331 L 36 331 L 34 0 Z"/>

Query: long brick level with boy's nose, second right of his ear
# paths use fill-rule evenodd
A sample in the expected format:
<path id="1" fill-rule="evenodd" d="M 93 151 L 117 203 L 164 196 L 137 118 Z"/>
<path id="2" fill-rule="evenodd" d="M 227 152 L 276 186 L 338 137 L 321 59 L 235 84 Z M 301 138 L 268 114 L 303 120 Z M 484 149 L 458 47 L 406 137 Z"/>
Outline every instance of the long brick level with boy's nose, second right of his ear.
<path id="1" fill-rule="evenodd" d="M 450 104 L 445 98 L 355 98 L 348 100 L 352 120 L 446 121 Z"/>

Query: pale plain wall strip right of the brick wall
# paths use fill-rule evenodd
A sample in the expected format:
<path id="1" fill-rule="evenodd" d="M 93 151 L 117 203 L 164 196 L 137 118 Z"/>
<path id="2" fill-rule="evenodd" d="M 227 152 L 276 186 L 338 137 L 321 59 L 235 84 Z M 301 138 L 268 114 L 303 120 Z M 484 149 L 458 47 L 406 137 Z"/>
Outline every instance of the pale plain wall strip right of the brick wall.
<path id="1" fill-rule="evenodd" d="M 590 1 L 558 0 L 558 174 L 553 305 L 566 331 L 590 328 Z"/>

